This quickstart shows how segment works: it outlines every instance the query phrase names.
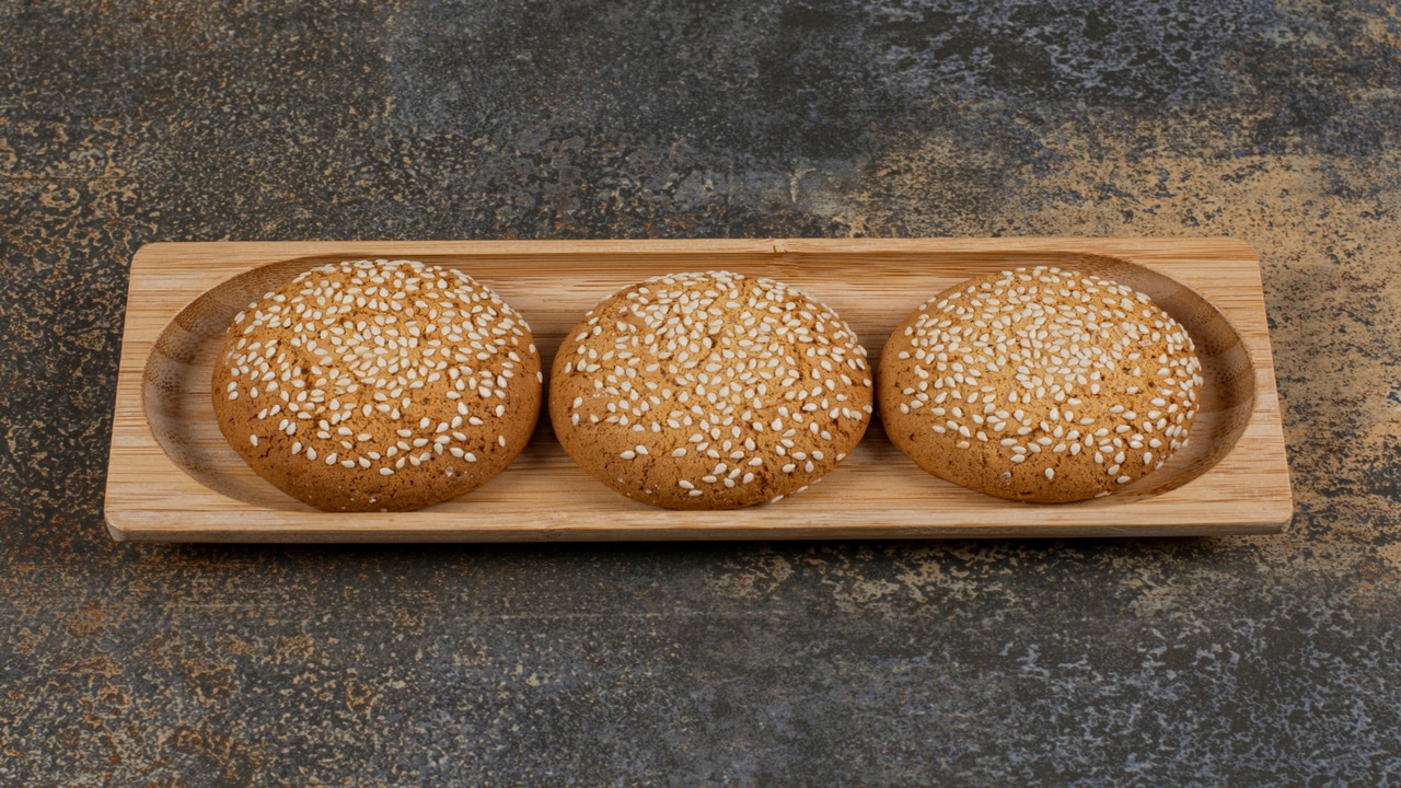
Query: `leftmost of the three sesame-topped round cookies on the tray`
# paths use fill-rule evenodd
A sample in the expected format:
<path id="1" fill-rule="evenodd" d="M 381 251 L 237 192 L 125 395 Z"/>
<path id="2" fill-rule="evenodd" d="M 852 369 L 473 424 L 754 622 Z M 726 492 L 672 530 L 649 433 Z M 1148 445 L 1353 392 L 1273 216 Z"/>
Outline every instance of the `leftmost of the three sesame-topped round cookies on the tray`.
<path id="1" fill-rule="evenodd" d="M 525 447 L 541 400 L 530 327 L 471 276 L 412 261 L 322 265 L 238 313 L 213 377 L 230 446 L 328 512 L 468 492 Z"/>

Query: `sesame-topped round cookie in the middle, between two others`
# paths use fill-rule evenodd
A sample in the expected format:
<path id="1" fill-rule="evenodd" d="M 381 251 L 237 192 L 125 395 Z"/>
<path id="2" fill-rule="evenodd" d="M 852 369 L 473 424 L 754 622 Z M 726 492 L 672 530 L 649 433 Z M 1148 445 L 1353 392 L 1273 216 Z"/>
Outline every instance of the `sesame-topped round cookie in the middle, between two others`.
<path id="1" fill-rule="evenodd" d="M 801 491 L 862 439 L 866 351 L 836 314 L 771 279 L 672 273 L 595 306 L 565 338 L 549 415 L 618 492 L 734 509 Z"/>

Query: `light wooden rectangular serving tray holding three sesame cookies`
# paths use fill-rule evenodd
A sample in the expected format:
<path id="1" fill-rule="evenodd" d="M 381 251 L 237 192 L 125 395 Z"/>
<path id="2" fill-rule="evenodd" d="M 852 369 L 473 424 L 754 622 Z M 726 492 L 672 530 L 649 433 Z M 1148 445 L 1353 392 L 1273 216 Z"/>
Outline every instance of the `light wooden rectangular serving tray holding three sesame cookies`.
<path id="1" fill-rule="evenodd" d="M 600 299 L 665 272 L 771 276 L 835 308 L 878 366 L 915 307 L 989 271 L 1059 265 L 1152 296 L 1191 331 L 1203 365 L 1192 440 L 1115 495 L 1014 503 L 927 475 L 877 419 L 821 484 L 779 503 L 670 512 L 602 487 L 542 415 L 531 444 L 479 489 L 408 513 L 324 513 L 275 489 L 214 422 L 210 370 L 233 315 L 307 268 L 357 258 L 450 265 L 530 321 L 549 369 Z M 548 386 L 548 381 L 546 381 Z M 1278 533 L 1293 499 L 1259 264 L 1229 238 L 726 241 L 328 241 L 150 244 L 132 261 L 106 523 L 147 541 L 527 541 L 678 538 L 1086 537 Z"/>

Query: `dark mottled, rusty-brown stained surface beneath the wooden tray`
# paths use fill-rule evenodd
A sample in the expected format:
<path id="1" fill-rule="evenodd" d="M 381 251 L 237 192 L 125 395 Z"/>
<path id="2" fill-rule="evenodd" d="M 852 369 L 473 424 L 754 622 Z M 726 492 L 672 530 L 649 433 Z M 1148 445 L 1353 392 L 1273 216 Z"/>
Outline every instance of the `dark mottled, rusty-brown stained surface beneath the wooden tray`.
<path id="1" fill-rule="evenodd" d="M 0 4 L 0 784 L 1401 781 L 1401 20 Z M 126 269 L 217 238 L 1229 234 L 1282 537 L 122 545 Z"/>

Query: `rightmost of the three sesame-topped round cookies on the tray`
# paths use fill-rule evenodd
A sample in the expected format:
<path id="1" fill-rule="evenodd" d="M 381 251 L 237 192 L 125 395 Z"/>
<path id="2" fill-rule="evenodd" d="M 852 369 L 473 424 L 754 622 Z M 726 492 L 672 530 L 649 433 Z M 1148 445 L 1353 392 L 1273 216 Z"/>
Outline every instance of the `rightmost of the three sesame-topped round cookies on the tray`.
<path id="1" fill-rule="evenodd" d="M 936 477 L 1042 503 L 1110 495 L 1187 446 L 1201 363 L 1152 299 L 1019 268 L 939 293 L 878 370 L 891 442 Z"/>

